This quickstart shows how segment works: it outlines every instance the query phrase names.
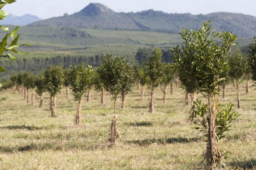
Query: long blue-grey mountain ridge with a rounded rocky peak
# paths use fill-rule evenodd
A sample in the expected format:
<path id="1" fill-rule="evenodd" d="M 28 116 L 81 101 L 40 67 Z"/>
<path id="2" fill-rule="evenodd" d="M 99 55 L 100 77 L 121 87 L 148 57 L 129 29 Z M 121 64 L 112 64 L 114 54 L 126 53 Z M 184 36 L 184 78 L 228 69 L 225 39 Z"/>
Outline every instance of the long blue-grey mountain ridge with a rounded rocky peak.
<path id="1" fill-rule="evenodd" d="M 239 37 L 253 37 L 256 30 L 256 17 L 227 12 L 192 15 L 169 14 L 162 11 L 115 12 L 100 3 L 90 3 L 81 11 L 53 17 L 32 23 L 38 26 L 74 26 L 77 28 L 148 30 L 179 33 L 181 28 L 200 28 L 204 20 L 212 20 L 217 31 L 232 31 Z"/>

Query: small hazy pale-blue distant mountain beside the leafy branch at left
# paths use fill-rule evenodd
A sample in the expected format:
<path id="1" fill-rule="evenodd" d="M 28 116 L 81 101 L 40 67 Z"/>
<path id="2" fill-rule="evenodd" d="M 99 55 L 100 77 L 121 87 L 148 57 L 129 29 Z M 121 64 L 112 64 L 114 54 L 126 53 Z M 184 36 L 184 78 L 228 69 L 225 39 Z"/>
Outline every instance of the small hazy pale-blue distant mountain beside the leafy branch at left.
<path id="1" fill-rule="evenodd" d="M 26 26 L 35 21 L 40 21 L 41 19 L 35 15 L 25 14 L 23 16 L 16 16 L 14 14 L 9 14 L 5 20 L 1 20 L 2 25 L 14 25 L 14 26 Z"/>

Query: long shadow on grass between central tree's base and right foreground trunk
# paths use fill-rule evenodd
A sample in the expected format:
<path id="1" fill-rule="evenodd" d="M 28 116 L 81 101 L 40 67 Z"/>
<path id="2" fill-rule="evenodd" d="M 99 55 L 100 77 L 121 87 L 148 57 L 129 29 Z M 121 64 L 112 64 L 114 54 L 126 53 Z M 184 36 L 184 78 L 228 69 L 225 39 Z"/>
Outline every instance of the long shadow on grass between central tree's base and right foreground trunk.
<path id="1" fill-rule="evenodd" d="M 168 138 L 168 139 L 144 139 L 144 140 L 131 140 L 127 141 L 127 143 L 131 144 L 139 144 L 140 146 L 149 145 L 149 144 L 172 144 L 172 143 L 189 143 L 200 140 L 199 138 Z"/>

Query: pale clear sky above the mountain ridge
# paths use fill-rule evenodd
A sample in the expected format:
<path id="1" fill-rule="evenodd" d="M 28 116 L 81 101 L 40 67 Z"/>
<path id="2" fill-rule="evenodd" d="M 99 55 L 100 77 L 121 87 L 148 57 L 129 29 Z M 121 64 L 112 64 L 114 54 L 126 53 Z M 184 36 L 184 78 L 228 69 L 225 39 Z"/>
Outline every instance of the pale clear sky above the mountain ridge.
<path id="1" fill-rule="evenodd" d="M 17 16 L 33 14 L 47 19 L 73 14 L 89 3 L 102 3 L 116 12 L 154 9 L 167 13 L 209 14 L 224 11 L 256 17 L 256 0 L 17 0 L 2 10 Z"/>

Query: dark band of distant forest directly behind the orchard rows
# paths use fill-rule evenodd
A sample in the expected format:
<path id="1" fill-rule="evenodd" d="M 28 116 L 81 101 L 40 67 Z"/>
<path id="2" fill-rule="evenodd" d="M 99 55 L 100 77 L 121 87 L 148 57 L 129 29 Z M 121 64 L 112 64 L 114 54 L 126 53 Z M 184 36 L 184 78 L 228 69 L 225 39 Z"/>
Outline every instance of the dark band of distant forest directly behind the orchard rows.
<path id="1" fill-rule="evenodd" d="M 238 49 L 245 54 L 248 51 L 247 47 L 240 47 L 239 45 L 236 45 L 233 47 L 232 52 L 237 53 Z M 163 53 L 163 62 L 172 63 L 171 48 L 162 48 L 161 51 Z M 150 54 L 154 54 L 154 48 L 139 48 L 134 57 L 134 62 L 132 63 L 137 62 L 142 64 Z M 9 59 L 2 59 L 1 65 L 3 65 L 7 71 L 1 74 L 0 80 L 2 82 L 6 82 L 9 80 L 9 75 L 14 74 L 16 71 L 27 71 L 36 74 L 47 68 L 49 65 L 63 65 L 63 68 L 69 68 L 70 65 L 78 65 L 79 63 L 84 62 L 87 65 L 97 67 L 101 63 L 101 57 L 102 54 L 96 56 L 59 54 L 56 56 L 47 57 L 17 57 L 16 60 L 12 61 Z"/>

